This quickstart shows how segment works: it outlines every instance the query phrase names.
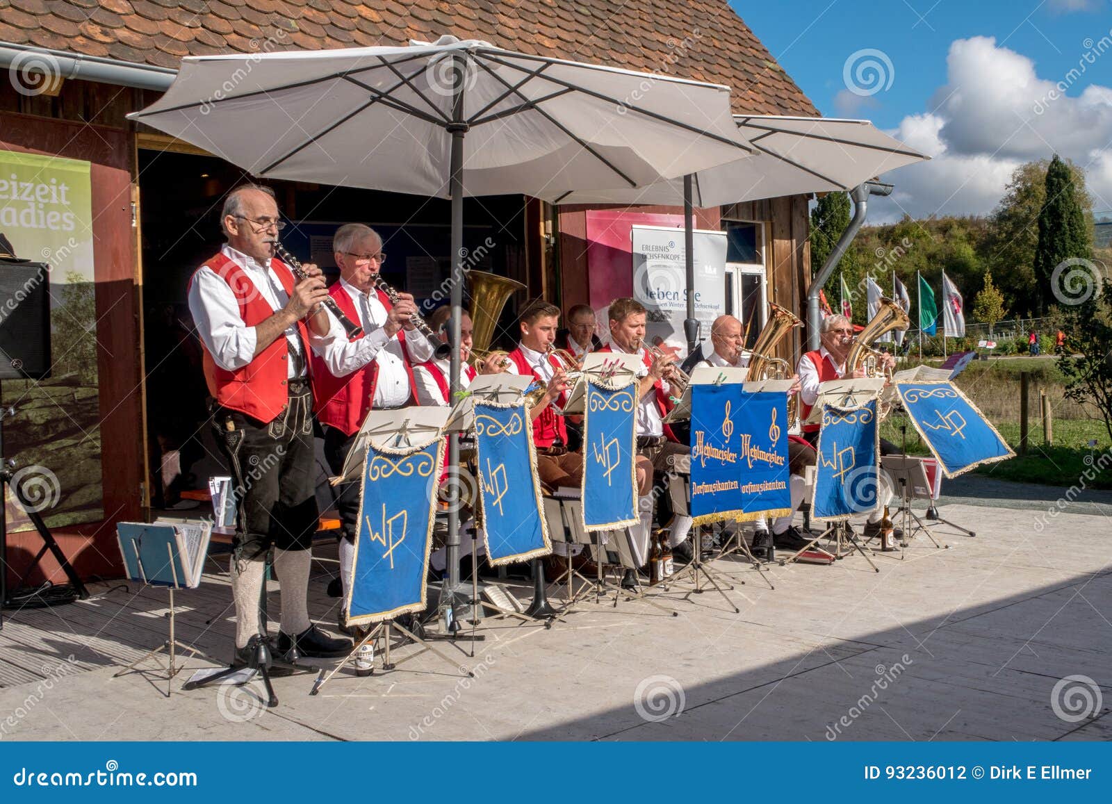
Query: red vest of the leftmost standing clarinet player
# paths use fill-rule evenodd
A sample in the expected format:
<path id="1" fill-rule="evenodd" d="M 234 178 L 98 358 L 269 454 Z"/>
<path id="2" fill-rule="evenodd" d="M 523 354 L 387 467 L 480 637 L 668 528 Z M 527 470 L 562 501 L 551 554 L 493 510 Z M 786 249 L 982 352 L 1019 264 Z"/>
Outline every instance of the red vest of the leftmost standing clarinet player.
<path id="1" fill-rule="evenodd" d="M 228 282 L 228 287 L 236 295 L 236 301 L 239 302 L 239 317 L 244 319 L 245 325 L 257 327 L 275 314 L 247 272 L 224 254 L 209 258 L 201 268 L 206 266 Z M 289 272 L 286 264 L 272 259 L 270 270 L 278 277 L 286 292 L 292 296 L 294 275 Z M 190 286 L 196 276 L 193 272 L 190 277 Z M 302 354 L 308 356 L 311 350 L 305 321 L 298 321 L 297 329 L 301 335 Z M 203 340 L 201 343 L 203 345 Z M 205 380 L 209 394 L 221 407 L 239 410 L 262 424 L 269 424 L 289 405 L 287 401 L 289 389 L 286 385 L 289 375 L 289 341 L 286 340 L 285 334 L 275 338 L 275 341 L 256 355 L 249 364 L 232 371 L 218 366 L 207 346 L 203 351 Z"/>

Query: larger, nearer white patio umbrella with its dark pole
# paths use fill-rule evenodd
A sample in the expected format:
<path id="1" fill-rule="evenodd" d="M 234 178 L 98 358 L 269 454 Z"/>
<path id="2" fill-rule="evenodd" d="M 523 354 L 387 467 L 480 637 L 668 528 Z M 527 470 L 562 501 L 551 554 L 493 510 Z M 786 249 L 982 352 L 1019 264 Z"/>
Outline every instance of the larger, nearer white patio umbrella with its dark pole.
<path id="1" fill-rule="evenodd" d="M 463 199 L 637 187 L 749 152 L 718 85 L 441 37 L 409 47 L 182 59 L 129 116 L 257 177 L 451 199 L 451 338 L 459 343 Z M 451 354 L 451 391 L 459 389 Z M 455 436 L 449 466 L 458 466 Z M 449 587 L 458 514 L 449 488 Z"/>

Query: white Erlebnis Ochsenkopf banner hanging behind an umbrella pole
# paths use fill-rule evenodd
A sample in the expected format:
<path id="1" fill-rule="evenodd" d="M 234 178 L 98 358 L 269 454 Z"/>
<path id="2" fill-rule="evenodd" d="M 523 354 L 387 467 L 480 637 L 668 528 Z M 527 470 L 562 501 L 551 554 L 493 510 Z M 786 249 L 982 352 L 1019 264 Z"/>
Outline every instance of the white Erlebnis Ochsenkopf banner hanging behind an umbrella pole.
<path id="1" fill-rule="evenodd" d="M 726 232 L 694 232 L 695 319 L 699 339 L 711 337 L 711 324 L 726 310 Z M 633 297 L 645 306 L 645 346 L 677 349 L 687 356 L 684 319 L 687 318 L 687 270 L 684 230 L 635 226 L 633 239 Z"/>

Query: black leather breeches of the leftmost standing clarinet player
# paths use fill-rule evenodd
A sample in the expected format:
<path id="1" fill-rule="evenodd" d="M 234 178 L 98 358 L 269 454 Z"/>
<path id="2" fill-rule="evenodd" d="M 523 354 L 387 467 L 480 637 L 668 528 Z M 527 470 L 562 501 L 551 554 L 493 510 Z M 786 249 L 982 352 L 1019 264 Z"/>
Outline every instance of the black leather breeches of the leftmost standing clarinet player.
<path id="1" fill-rule="evenodd" d="M 289 381 L 286 409 L 269 424 L 217 407 L 211 424 L 228 458 L 236 495 L 237 559 L 259 560 L 274 546 L 307 550 L 319 519 L 312 449 L 312 390 Z"/>

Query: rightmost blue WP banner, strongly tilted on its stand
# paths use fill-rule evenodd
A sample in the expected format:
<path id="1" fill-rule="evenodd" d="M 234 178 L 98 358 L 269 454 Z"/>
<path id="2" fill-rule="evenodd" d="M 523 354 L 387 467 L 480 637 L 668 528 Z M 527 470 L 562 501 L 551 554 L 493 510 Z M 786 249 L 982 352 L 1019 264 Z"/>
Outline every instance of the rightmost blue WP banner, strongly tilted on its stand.
<path id="1" fill-rule="evenodd" d="M 949 477 L 1015 455 L 952 383 L 897 383 L 907 417 Z"/>

